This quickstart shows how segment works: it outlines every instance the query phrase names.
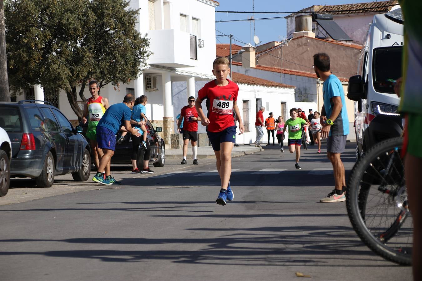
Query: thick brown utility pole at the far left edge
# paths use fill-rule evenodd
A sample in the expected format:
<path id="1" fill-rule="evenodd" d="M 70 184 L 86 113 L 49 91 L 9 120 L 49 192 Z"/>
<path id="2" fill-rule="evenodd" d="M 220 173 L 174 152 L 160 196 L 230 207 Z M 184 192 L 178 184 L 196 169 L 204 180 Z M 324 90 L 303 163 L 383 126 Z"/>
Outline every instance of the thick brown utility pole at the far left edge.
<path id="1" fill-rule="evenodd" d="M 0 102 L 10 102 L 7 76 L 6 30 L 4 25 L 4 0 L 0 0 Z"/>

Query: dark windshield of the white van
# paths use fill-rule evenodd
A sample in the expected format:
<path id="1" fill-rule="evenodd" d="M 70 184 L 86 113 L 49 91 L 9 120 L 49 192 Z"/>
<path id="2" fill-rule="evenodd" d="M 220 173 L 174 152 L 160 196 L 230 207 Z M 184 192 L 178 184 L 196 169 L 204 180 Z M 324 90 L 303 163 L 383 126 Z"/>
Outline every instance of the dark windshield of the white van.
<path id="1" fill-rule="evenodd" d="M 373 87 L 381 93 L 395 94 L 394 83 L 401 77 L 403 46 L 376 48 L 373 51 Z"/>

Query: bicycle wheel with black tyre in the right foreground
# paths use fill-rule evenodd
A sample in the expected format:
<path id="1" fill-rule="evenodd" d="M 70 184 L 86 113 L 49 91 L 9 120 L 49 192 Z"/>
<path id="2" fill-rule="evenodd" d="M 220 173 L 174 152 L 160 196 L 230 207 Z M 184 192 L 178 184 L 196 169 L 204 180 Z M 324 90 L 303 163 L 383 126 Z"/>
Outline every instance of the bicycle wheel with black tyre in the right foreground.
<path id="1" fill-rule="evenodd" d="M 409 211 L 402 138 L 387 139 L 354 165 L 346 207 L 360 239 L 381 257 L 411 264 L 413 219 Z"/>

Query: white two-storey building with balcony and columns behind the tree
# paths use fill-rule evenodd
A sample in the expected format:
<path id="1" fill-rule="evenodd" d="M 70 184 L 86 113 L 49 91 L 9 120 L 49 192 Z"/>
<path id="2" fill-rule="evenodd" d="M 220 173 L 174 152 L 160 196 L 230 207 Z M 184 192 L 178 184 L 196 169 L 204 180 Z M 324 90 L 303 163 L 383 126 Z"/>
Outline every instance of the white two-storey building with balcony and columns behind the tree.
<path id="1" fill-rule="evenodd" d="M 122 102 L 128 93 L 148 96 L 146 115 L 155 126 L 163 127 L 162 135 L 167 144 L 175 112 L 180 110 L 174 108 L 175 104 L 177 107 L 185 105 L 188 96 L 197 96 L 197 89 L 214 79 L 211 70 L 216 52 L 216 5 L 219 3 L 213 0 L 130 1 L 130 8 L 140 9 L 136 29 L 150 39 L 149 51 L 153 54 L 138 79 L 122 83 L 119 88 L 107 85 L 101 88 L 100 95 L 106 97 L 110 105 Z M 172 94 L 175 89 L 178 94 Z M 90 97 L 88 86 L 84 96 Z M 44 100 L 42 88 L 35 86 L 16 100 L 34 98 Z M 64 91 L 60 91 L 58 100 L 53 103 L 69 120 L 77 123 Z M 78 104 L 83 108 L 82 100 Z"/>

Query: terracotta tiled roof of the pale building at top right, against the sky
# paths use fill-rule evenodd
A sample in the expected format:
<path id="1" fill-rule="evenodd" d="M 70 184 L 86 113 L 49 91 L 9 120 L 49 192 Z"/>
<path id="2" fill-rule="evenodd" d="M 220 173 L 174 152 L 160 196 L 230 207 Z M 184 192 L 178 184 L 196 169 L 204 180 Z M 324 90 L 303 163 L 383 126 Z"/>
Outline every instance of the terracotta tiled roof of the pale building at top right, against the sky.
<path id="1" fill-rule="evenodd" d="M 344 5 L 328 5 L 319 6 L 320 9 L 315 9 L 316 12 L 326 11 L 338 11 L 338 10 L 357 10 L 360 11 L 344 11 L 344 12 L 330 12 L 333 15 L 350 14 L 350 13 L 368 13 L 368 12 L 379 12 L 387 13 L 391 10 L 392 5 L 397 5 L 397 0 L 381 1 L 381 2 L 367 2 L 367 3 L 355 3 L 355 4 L 344 4 Z M 316 6 L 317 7 L 317 6 Z"/>

